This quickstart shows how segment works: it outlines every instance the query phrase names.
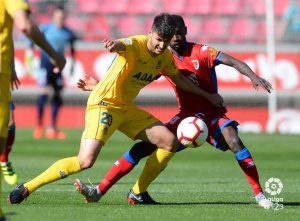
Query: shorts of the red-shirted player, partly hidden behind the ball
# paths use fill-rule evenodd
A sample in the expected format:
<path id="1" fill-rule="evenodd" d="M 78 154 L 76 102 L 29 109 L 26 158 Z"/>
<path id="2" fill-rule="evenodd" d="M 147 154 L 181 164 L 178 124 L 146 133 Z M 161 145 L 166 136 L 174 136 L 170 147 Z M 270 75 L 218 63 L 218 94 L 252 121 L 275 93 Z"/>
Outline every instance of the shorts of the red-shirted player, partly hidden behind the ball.
<path id="1" fill-rule="evenodd" d="M 166 127 L 176 135 L 178 124 L 181 122 L 181 120 L 190 116 L 199 117 L 204 120 L 208 128 L 208 136 L 206 141 L 209 144 L 222 151 L 228 150 L 228 148 L 222 147 L 220 143 L 218 143 L 217 138 L 221 134 L 222 130 L 228 125 L 233 126 L 237 130 L 237 126 L 239 125 L 237 121 L 229 119 L 226 115 L 210 117 L 201 113 L 178 113 L 168 123 L 166 123 Z"/>

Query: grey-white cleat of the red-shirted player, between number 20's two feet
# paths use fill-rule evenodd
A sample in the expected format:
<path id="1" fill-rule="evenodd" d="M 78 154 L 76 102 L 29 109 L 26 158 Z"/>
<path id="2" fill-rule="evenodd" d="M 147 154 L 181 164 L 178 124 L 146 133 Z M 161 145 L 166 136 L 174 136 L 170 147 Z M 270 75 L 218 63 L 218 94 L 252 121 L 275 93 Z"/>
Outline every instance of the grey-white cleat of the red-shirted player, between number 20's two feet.
<path id="1" fill-rule="evenodd" d="M 102 194 L 97 192 L 97 187 L 90 186 L 82 183 L 79 179 L 75 179 L 74 185 L 81 195 L 84 195 L 84 200 L 86 203 L 96 203 L 98 202 Z"/>

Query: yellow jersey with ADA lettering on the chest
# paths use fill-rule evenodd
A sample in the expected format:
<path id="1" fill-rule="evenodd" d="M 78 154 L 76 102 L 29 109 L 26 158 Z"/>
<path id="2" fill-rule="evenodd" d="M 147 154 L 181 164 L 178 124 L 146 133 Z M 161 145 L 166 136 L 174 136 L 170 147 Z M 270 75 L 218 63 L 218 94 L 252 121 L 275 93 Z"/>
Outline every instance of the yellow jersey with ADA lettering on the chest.
<path id="1" fill-rule="evenodd" d="M 159 72 L 176 75 L 178 70 L 171 52 L 166 49 L 153 57 L 147 48 L 146 35 L 119 39 L 125 51 L 118 53 L 106 74 L 93 89 L 88 108 L 99 104 L 122 108 L 131 105 L 140 90 L 151 83 Z"/>

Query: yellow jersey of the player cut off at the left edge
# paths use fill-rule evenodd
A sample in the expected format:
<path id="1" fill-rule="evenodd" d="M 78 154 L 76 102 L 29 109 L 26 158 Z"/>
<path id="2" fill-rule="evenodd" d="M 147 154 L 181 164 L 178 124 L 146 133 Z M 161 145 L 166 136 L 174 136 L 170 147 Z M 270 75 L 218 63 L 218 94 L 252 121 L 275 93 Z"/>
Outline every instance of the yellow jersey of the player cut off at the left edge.
<path id="1" fill-rule="evenodd" d="M 26 0 L 0 0 L 0 74 L 10 79 L 13 59 L 13 17 L 17 10 L 30 10 Z"/>

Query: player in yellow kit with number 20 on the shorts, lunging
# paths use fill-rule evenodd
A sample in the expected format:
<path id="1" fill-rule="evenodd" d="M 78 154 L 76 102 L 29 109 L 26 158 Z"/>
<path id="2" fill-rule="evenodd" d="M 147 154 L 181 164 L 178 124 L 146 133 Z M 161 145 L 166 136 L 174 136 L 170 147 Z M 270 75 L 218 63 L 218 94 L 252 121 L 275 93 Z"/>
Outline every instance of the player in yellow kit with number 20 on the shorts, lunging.
<path id="1" fill-rule="evenodd" d="M 92 167 L 102 146 L 117 129 L 133 140 L 148 141 L 159 147 L 149 157 L 139 178 L 137 192 L 147 189 L 176 152 L 178 141 L 162 122 L 133 104 L 139 91 L 163 71 L 183 90 L 223 105 L 219 96 L 197 88 L 177 70 L 170 51 L 166 50 L 175 27 L 173 17 L 163 13 L 154 18 L 148 36 L 103 40 L 104 47 L 117 56 L 89 96 L 78 155 L 55 162 L 39 176 L 17 186 L 9 195 L 10 203 L 21 203 L 39 187 Z M 97 188 L 78 179 L 75 185 L 86 202 L 99 201 L 101 193 Z"/>

